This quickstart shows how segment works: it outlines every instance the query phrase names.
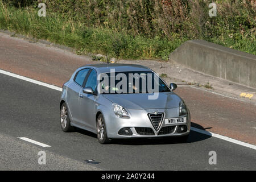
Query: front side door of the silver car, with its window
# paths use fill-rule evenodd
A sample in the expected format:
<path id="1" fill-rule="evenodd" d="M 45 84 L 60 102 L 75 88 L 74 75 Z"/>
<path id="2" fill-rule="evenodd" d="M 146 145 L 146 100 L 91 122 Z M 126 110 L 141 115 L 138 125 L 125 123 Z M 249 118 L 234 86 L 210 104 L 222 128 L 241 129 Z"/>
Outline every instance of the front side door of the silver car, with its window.
<path id="1" fill-rule="evenodd" d="M 86 80 L 85 87 L 91 87 L 93 92 L 97 92 L 97 73 L 92 69 L 89 73 Z M 79 93 L 79 112 L 81 116 L 81 121 L 84 122 L 84 125 L 89 127 L 92 130 L 96 129 L 95 117 L 96 117 L 96 99 L 97 96 L 94 94 L 83 93 L 82 90 Z"/>

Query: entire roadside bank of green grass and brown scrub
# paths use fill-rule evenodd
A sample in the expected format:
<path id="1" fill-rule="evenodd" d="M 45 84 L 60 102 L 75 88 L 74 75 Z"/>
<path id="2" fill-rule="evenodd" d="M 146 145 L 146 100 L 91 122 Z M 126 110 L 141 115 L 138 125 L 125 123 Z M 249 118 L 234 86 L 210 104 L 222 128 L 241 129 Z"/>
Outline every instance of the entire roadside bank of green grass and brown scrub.
<path id="1" fill-rule="evenodd" d="M 0 0 L 0 28 L 121 59 L 168 59 L 181 43 L 203 39 L 256 55 L 254 0 Z"/>

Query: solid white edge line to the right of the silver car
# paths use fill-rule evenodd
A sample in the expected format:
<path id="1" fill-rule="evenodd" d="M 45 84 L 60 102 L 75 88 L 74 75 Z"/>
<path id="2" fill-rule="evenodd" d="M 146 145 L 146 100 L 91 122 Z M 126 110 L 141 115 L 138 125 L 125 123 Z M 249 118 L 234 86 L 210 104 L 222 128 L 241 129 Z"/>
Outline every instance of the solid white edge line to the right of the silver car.
<path id="1" fill-rule="evenodd" d="M 253 148 L 254 150 L 256 150 L 256 146 L 253 145 L 253 144 L 241 142 L 240 140 L 236 140 L 236 139 L 233 139 L 233 138 L 225 137 L 225 136 L 222 136 L 222 135 L 219 135 L 219 134 L 215 134 L 215 133 L 212 133 L 212 132 L 209 132 L 209 131 L 200 130 L 200 129 L 197 129 L 196 127 L 191 127 L 191 130 L 196 131 L 196 132 L 201 133 L 201 134 L 209 135 L 211 137 L 216 137 L 216 138 L 219 138 L 219 139 L 222 139 L 222 140 L 226 140 L 228 142 L 240 144 L 241 146 Z"/>

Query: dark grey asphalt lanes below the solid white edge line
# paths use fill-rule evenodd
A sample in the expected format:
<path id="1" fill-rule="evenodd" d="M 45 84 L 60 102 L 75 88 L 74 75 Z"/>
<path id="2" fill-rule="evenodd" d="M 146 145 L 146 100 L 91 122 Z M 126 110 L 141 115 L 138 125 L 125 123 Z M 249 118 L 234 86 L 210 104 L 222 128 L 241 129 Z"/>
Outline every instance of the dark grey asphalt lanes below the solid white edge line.
<path id="1" fill-rule="evenodd" d="M 106 145 L 86 131 L 63 133 L 59 98 L 57 90 L 0 74 L 0 169 L 256 169 L 255 150 L 195 131 L 191 131 L 188 143 L 136 139 L 114 140 Z M 51 147 L 36 146 L 18 137 Z M 40 150 L 47 154 L 43 167 L 36 156 Z M 216 151 L 216 165 L 208 162 L 210 151 Z M 86 164 L 87 159 L 96 164 Z"/>

